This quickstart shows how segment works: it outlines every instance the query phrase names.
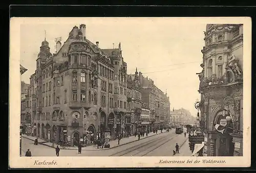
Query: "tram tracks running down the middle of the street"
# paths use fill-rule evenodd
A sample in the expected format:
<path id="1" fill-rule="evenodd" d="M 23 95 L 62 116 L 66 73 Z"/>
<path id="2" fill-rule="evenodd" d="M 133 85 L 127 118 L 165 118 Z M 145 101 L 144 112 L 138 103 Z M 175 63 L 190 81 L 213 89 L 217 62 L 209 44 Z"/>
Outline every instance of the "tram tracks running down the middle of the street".
<path id="1" fill-rule="evenodd" d="M 146 142 L 140 143 L 139 145 L 136 145 L 136 146 L 132 146 L 132 147 L 130 147 L 130 148 L 127 148 L 126 150 L 121 151 L 121 152 L 118 152 L 118 153 L 115 153 L 115 154 L 113 154 L 113 155 L 111 155 L 111 156 L 124 156 L 124 155 L 136 156 L 136 155 L 138 155 L 138 154 L 140 154 L 140 153 L 145 152 L 146 149 L 151 148 L 151 147 L 157 145 L 157 147 L 154 147 L 153 149 L 150 150 L 150 152 L 152 152 L 152 150 L 154 150 L 154 149 L 160 147 L 161 145 L 167 143 L 168 141 L 174 139 L 174 138 L 177 137 L 177 136 L 179 136 L 179 135 L 175 135 L 174 137 L 172 137 L 172 138 L 170 138 L 170 139 L 167 139 L 167 140 L 165 140 L 165 139 L 166 139 L 166 136 L 163 136 L 163 137 L 160 137 L 160 138 L 156 138 L 156 139 L 152 139 L 152 140 L 150 140 L 150 141 L 146 141 Z M 162 139 L 163 139 L 163 140 L 162 140 Z M 159 141 L 164 141 L 164 142 L 160 142 L 160 145 L 159 145 Z M 147 145 L 149 145 L 149 146 L 147 146 Z M 143 147 L 145 147 L 145 146 L 147 146 L 145 150 L 140 150 L 140 151 L 138 151 L 138 152 L 136 152 L 136 153 L 133 154 L 134 151 L 136 151 L 136 150 L 138 150 L 138 149 L 141 149 L 141 148 L 143 148 Z M 148 154 L 148 153 L 150 153 L 150 152 L 147 152 L 146 154 Z M 131 154 L 132 154 L 132 155 L 131 155 Z M 146 154 L 143 154 L 143 156 L 146 155 Z"/>

